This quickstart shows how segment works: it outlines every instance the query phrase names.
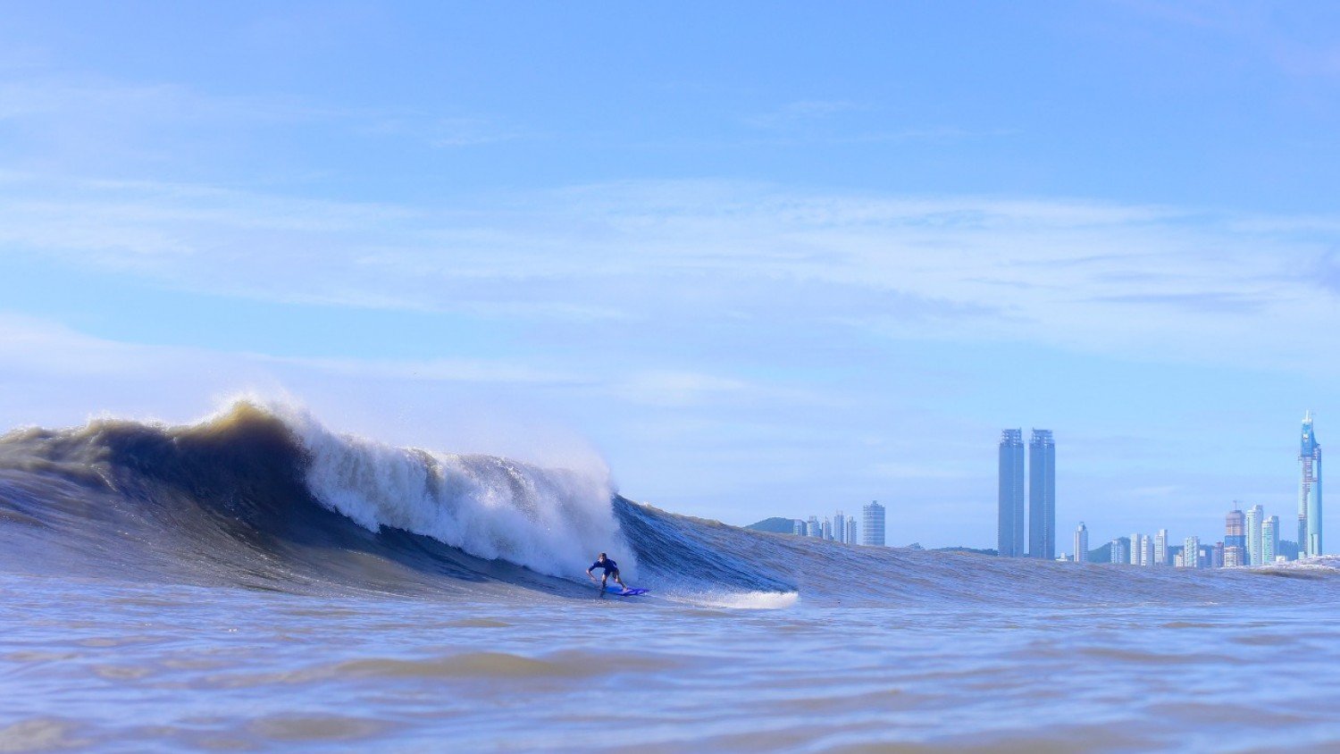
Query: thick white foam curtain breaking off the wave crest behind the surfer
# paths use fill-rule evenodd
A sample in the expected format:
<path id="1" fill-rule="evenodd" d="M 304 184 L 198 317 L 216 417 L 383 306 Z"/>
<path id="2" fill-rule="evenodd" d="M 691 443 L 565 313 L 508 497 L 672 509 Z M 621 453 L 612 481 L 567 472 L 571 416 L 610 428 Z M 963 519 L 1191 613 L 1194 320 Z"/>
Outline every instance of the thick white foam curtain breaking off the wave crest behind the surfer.
<path id="1" fill-rule="evenodd" d="M 607 475 L 393 447 L 332 433 L 299 408 L 268 410 L 307 451 L 312 496 L 370 530 L 403 529 L 563 577 L 582 576 L 596 553 L 608 552 L 624 577 L 636 575 Z"/>

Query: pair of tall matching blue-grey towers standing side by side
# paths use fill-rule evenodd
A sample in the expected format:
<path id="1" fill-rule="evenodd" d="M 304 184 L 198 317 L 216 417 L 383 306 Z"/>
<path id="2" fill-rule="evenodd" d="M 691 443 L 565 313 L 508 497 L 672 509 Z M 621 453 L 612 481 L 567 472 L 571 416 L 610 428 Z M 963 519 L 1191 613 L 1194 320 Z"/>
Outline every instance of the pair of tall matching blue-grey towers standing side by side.
<path id="1" fill-rule="evenodd" d="M 1002 557 L 1056 558 L 1056 443 L 1052 430 L 1028 441 L 1028 550 L 1024 549 L 1024 430 L 1001 431 L 996 549 Z"/>

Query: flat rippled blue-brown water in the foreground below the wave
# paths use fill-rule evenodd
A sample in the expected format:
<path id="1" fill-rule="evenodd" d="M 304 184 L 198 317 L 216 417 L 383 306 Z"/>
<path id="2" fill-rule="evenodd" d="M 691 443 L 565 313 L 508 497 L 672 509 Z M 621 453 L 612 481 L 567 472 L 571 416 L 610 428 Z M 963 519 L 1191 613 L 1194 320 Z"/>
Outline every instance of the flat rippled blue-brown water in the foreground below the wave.
<path id="1" fill-rule="evenodd" d="M 1331 608 L 705 608 L 0 576 L 0 751 L 1340 747 Z"/>

